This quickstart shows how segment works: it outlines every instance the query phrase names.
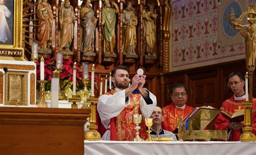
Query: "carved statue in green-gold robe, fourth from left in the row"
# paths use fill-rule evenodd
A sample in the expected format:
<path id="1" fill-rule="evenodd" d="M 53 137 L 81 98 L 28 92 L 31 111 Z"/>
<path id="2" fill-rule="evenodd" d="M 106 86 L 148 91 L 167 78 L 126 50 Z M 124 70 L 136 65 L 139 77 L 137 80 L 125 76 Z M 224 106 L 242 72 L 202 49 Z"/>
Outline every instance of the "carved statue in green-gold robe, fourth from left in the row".
<path id="1" fill-rule="evenodd" d="M 102 30 L 104 36 L 104 53 L 114 53 L 116 44 L 116 34 L 114 27 L 116 26 L 116 13 L 119 13 L 119 8 L 114 1 L 111 5 L 109 0 L 104 1 L 102 9 Z"/>

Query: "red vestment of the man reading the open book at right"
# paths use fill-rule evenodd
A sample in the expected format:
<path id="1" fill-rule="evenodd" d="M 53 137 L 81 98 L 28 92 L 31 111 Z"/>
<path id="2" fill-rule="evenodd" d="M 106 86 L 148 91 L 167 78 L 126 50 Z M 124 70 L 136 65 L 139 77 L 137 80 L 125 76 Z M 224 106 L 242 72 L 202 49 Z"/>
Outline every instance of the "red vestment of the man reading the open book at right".
<path id="1" fill-rule="evenodd" d="M 230 99 L 223 102 L 220 109 L 224 110 L 230 116 L 234 113 L 234 110 L 238 109 L 238 105 L 241 105 L 245 100 L 234 100 L 234 96 Z M 241 107 L 241 109 L 245 109 Z M 253 98 L 253 110 L 252 110 L 252 132 L 254 135 L 256 134 L 256 99 Z M 227 130 L 228 127 L 228 119 L 225 118 L 221 113 L 218 115 L 215 121 L 215 129 L 216 130 Z M 228 137 L 228 141 L 239 141 L 240 135 L 242 133 L 242 129 L 231 130 L 230 136 Z"/>

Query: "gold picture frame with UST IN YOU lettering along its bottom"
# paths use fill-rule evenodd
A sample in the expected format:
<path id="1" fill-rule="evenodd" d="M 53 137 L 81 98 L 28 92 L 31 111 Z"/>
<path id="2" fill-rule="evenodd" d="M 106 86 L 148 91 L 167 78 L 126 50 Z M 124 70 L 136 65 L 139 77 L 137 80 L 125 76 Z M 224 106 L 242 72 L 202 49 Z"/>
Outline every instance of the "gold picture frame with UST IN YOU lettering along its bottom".
<path id="1" fill-rule="evenodd" d="M 10 11 L 10 17 L 6 17 L 6 22 L 11 23 L 7 25 L 11 43 L 8 39 L 6 42 L 5 40 L 0 41 L 0 59 L 26 60 L 22 47 L 23 0 L 5 0 L 4 5 Z"/>

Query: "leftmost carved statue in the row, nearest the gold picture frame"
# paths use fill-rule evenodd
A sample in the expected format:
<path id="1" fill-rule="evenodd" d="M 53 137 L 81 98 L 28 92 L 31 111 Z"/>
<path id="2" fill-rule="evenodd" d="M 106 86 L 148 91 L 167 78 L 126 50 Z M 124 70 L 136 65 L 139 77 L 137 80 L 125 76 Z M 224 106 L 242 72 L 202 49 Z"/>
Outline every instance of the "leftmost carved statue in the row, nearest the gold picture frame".
<path id="1" fill-rule="evenodd" d="M 51 5 L 47 0 L 42 0 L 37 6 L 37 16 L 39 18 L 39 28 L 38 28 L 38 41 L 39 48 L 49 49 L 48 41 L 51 39 L 51 29 L 53 14 Z"/>

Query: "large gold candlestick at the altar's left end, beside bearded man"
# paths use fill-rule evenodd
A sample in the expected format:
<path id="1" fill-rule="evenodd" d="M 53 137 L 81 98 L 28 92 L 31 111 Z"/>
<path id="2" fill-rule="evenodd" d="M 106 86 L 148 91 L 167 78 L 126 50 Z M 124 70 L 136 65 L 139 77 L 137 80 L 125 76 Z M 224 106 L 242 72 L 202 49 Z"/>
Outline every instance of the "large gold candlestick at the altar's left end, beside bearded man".
<path id="1" fill-rule="evenodd" d="M 91 103 L 91 117 L 89 119 L 90 125 L 88 125 L 89 131 L 86 131 L 84 134 L 85 140 L 100 140 L 101 136 L 96 129 L 98 128 L 98 125 L 96 125 L 96 105 L 98 103 L 98 98 L 91 96 L 90 98 L 87 98 L 87 102 Z"/>

